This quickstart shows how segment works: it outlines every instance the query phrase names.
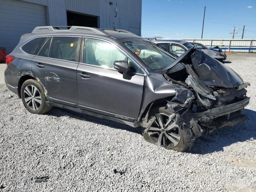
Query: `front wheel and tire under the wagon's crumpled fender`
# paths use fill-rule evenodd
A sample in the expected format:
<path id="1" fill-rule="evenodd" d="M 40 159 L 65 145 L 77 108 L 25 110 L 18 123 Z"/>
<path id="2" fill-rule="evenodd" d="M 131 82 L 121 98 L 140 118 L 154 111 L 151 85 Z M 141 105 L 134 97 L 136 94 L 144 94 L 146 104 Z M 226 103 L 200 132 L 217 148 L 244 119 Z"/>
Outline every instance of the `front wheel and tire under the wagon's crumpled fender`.
<path id="1" fill-rule="evenodd" d="M 157 118 L 158 114 L 160 117 Z M 162 116 L 162 118 L 161 118 Z M 174 118 L 168 126 L 165 128 L 161 128 L 158 123 L 158 119 L 162 119 L 164 124 L 164 119 L 166 116 L 166 123 L 168 122 L 168 117 L 170 119 Z M 144 139 L 152 144 L 156 144 L 158 146 L 164 146 L 167 150 L 176 150 L 178 152 L 183 152 L 188 148 L 191 148 L 193 142 L 195 140 L 194 133 L 192 132 L 189 125 L 176 125 L 175 123 L 175 114 L 173 114 L 170 110 L 165 109 L 164 107 L 153 108 L 148 115 L 148 122 L 151 118 L 156 117 L 156 122 L 154 121 L 150 127 L 143 128 L 142 127 L 142 135 Z M 158 126 L 159 130 L 156 128 Z M 164 126 L 163 126 L 164 127 Z M 167 130 L 168 127 L 174 127 L 171 130 Z M 158 130 L 158 133 L 154 133 L 154 131 Z M 165 130 L 165 131 L 164 131 Z M 152 134 L 153 132 L 153 134 Z M 159 142 L 157 138 L 162 134 L 162 141 Z M 171 141 L 173 140 L 173 142 Z M 165 143 L 164 143 L 165 142 Z"/>

